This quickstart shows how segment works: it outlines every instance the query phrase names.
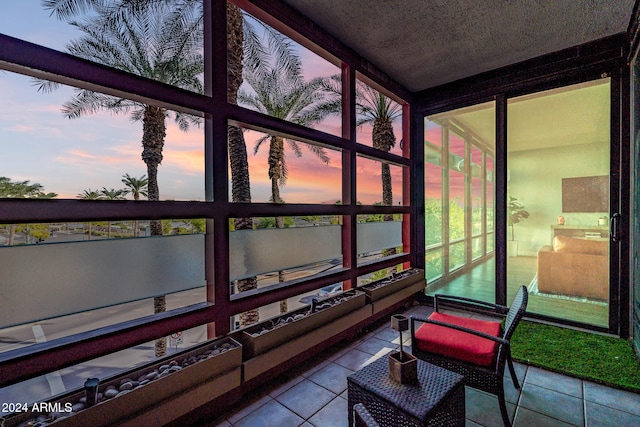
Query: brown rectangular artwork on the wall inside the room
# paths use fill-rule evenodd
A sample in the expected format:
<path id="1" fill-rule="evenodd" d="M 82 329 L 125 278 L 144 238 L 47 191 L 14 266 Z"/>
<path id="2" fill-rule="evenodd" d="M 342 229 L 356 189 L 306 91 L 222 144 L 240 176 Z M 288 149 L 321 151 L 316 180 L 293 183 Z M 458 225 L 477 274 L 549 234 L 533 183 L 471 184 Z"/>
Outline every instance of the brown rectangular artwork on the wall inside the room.
<path id="1" fill-rule="evenodd" d="M 609 176 L 562 178 L 562 212 L 609 212 Z"/>

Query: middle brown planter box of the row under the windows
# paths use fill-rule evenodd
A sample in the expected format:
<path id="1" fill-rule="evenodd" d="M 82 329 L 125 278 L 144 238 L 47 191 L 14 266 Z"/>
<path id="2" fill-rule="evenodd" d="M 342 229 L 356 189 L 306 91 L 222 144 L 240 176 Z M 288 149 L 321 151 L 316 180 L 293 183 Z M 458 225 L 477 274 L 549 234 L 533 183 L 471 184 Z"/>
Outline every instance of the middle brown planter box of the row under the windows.
<path id="1" fill-rule="evenodd" d="M 232 336 L 242 343 L 244 359 L 250 359 L 295 337 L 325 325 L 334 319 L 342 317 L 347 313 L 357 310 L 366 303 L 364 293 L 357 290 L 349 290 L 331 298 L 320 300 L 318 305 L 322 306 L 324 303 L 335 302 L 344 297 L 348 297 L 348 299 L 331 307 L 319 309 L 315 313 L 309 313 L 311 310 L 310 306 L 303 307 L 290 311 L 282 316 L 251 325 L 238 333 L 232 334 Z M 296 317 L 299 318 L 288 323 L 280 323 L 288 318 L 295 319 Z M 261 331 L 272 326 L 272 329 L 261 333 Z"/>

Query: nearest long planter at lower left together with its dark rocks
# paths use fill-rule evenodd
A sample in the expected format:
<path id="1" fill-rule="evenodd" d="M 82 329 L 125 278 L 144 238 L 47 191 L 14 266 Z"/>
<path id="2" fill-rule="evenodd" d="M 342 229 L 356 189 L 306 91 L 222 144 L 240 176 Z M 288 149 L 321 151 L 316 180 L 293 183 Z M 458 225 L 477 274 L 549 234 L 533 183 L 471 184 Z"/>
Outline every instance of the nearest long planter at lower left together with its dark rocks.
<path id="1" fill-rule="evenodd" d="M 84 389 L 75 390 L 46 402 L 58 410 L 15 414 L 3 427 L 166 424 L 239 387 L 241 365 L 242 346 L 237 341 L 209 341 L 101 380 L 94 406 L 85 404 Z"/>

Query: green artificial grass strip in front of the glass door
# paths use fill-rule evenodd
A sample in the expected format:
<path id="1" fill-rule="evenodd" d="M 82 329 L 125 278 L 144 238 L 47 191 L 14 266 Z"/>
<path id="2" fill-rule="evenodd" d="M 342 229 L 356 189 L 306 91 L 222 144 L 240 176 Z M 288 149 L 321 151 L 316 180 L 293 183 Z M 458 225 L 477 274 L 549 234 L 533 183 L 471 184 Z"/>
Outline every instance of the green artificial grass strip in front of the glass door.
<path id="1" fill-rule="evenodd" d="M 511 338 L 514 360 L 640 392 L 640 361 L 630 341 L 522 321 Z"/>

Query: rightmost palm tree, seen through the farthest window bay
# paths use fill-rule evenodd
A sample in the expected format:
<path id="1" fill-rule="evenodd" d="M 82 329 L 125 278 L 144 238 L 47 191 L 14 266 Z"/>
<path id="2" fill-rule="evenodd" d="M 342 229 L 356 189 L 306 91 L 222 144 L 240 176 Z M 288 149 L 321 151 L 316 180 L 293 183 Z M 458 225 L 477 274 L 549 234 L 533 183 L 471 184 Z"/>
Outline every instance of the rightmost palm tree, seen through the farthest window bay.
<path id="1" fill-rule="evenodd" d="M 342 80 L 340 76 L 332 76 L 324 81 L 325 90 L 333 96 L 334 112 L 339 112 L 337 103 L 342 93 Z M 402 108 L 391 98 L 373 89 L 371 86 L 356 81 L 356 126 L 372 124 L 371 139 L 373 148 L 389 152 L 396 145 L 396 137 L 393 133 L 393 122 L 401 117 Z M 391 170 L 389 164 L 382 162 L 382 205 L 393 205 L 393 189 L 391 186 Z M 384 215 L 385 221 L 393 221 L 392 214 Z M 385 251 L 385 255 L 395 254 L 395 248 Z"/>

